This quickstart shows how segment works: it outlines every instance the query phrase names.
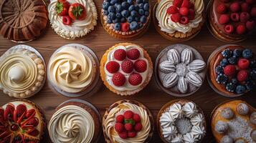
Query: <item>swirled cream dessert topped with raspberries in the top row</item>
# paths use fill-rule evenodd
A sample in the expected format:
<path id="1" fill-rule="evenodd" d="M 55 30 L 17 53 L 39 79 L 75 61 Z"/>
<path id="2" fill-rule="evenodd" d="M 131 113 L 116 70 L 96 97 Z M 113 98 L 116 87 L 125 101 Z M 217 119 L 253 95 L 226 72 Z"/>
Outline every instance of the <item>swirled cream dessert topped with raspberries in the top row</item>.
<path id="1" fill-rule="evenodd" d="M 203 0 L 158 0 L 154 12 L 156 30 L 171 41 L 193 38 L 204 24 Z"/>

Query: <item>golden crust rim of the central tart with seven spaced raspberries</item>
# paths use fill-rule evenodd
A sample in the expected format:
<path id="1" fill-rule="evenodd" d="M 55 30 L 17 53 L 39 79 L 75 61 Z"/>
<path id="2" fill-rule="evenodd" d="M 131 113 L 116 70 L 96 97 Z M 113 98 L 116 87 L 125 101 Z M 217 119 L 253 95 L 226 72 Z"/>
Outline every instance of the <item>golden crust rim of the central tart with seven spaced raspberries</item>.
<path id="1" fill-rule="evenodd" d="M 141 49 L 143 49 L 144 58 L 146 58 L 148 60 L 148 75 L 147 75 L 144 83 L 141 84 L 141 86 L 138 87 L 138 89 L 135 89 L 133 91 L 123 91 L 123 92 L 120 92 L 120 91 L 114 89 L 113 87 L 110 86 L 110 84 L 108 84 L 108 82 L 105 79 L 105 77 L 106 77 L 106 74 L 105 74 L 105 64 L 108 61 L 108 53 L 110 51 L 112 51 L 113 49 L 115 49 L 115 47 L 117 47 L 117 46 L 128 46 L 128 45 L 135 45 L 135 46 L 138 46 L 138 47 L 141 48 L 141 46 L 139 46 L 137 44 L 132 44 L 132 43 L 115 44 L 110 49 L 105 51 L 105 54 L 103 54 L 103 57 L 102 57 L 102 59 L 100 61 L 100 77 L 103 80 L 103 83 L 105 84 L 106 87 L 108 87 L 108 89 L 110 89 L 111 92 L 114 92 L 115 94 L 119 94 L 121 96 L 132 95 L 132 94 L 136 94 L 136 93 L 140 92 L 150 82 L 152 74 L 153 74 L 153 63 L 151 61 L 151 57 L 149 56 L 149 54 L 147 53 L 146 50 L 141 48 Z"/>

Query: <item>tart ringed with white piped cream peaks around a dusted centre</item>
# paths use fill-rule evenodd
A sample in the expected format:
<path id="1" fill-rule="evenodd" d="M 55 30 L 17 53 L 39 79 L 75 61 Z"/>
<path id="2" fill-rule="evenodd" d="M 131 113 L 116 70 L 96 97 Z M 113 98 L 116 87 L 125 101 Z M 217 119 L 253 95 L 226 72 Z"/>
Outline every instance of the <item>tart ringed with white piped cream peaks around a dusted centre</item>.
<path id="1" fill-rule="evenodd" d="M 204 113 L 194 102 L 179 99 L 163 105 L 157 117 L 163 142 L 202 142 L 207 131 Z"/>

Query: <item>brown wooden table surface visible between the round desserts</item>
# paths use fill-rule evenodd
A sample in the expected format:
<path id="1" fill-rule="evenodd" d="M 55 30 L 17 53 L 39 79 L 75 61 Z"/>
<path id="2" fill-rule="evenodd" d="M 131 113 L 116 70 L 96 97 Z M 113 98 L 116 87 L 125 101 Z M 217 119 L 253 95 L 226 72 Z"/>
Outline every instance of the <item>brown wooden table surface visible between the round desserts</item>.
<path id="1" fill-rule="evenodd" d="M 95 4 L 97 5 L 98 9 L 98 14 L 100 14 L 102 2 L 103 0 L 95 1 Z M 153 4 L 155 4 L 155 2 L 156 0 L 153 0 Z M 207 3 L 208 0 L 205 1 L 205 4 Z M 240 42 L 238 44 L 253 49 L 253 51 L 256 53 L 256 44 L 255 41 L 253 41 L 255 40 L 255 37 L 256 34 L 250 36 L 250 39 L 247 39 L 246 41 Z M 125 41 L 115 39 L 112 36 L 108 35 L 106 31 L 103 29 L 103 26 L 100 24 L 100 20 L 98 20 L 98 25 L 95 27 L 95 30 L 82 39 L 62 39 L 60 36 L 55 34 L 51 26 L 48 25 L 45 34 L 43 34 L 39 39 L 27 43 L 27 45 L 33 46 L 37 50 L 39 50 L 42 56 L 44 56 L 46 63 L 48 63 L 49 57 L 52 55 L 54 50 L 64 44 L 78 43 L 89 46 L 91 49 L 93 49 L 93 51 L 95 51 L 98 58 L 100 59 L 101 56 L 103 56 L 106 49 L 120 42 Z M 129 42 L 133 42 L 135 44 L 143 46 L 143 48 L 146 49 L 150 54 L 153 62 L 156 60 L 156 57 L 158 56 L 159 52 L 162 49 L 171 44 L 175 44 L 175 42 L 163 39 L 163 37 L 157 33 L 152 22 L 146 34 L 144 34 L 139 39 Z M 183 44 L 194 46 L 194 48 L 202 54 L 202 56 L 204 57 L 204 61 L 207 61 L 209 55 L 212 53 L 212 51 L 214 51 L 214 49 L 226 43 L 215 39 L 214 36 L 210 34 L 205 24 L 204 27 L 202 28 L 202 31 L 196 37 L 194 37 L 194 39 L 183 42 Z M 1 36 L 0 55 L 4 54 L 4 51 L 9 49 L 11 46 L 15 45 L 16 43 L 4 39 Z M 1 105 L 6 104 L 6 102 L 9 102 L 11 99 L 14 98 L 8 97 L 6 94 L 3 94 L 2 92 L 0 93 Z M 57 92 L 54 92 L 52 89 L 49 88 L 48 82 L 44 84 L 43 89 L 37 95 L 29 98 L 29 100 L 32 100 L 40 107 L 42 107 L 42 109 L 44 110 L 44 114 L 47 118 L 47 122 L 49 122 L 49 119 L 52 116 L 54 109 L 59 104 L 67 101 L 68 99 L 72 98 L 64 97 L 61 94 L 57 94 Z M 161 91 L 161 89 L 156 84 L 155 77 L 152 77 L 150 84 L 148 84 L 148 86 L 145 89 L 143 89 L 143 91 L 131 97 L 118 96 L 113 92 L 110 92 L 110 90 L 108 90 L 104 85 L 102 85 L 100 87 L 100 90 L 96 94 L 93 94 L 93 96 L 88 98 L 78 97 L 77 99 L 84 99 L 87 102 L 94 104 L 101 115 L 105 113 L 105 109 L 108 108 L 110 104 L 113 104 L 113 102 L 116 102 L 120 99 L 135 99 L 145 104 L 151 110 L 154 119 L 156 119 L 158 110 L 161 109 L 163 104 L 169 102 L 170 100 L 179 98 L 172 97 L 169 94 L 166 94 L 165 92 Z M 211 89 L 211 87 L 209 87 L 207 79 L 205 79 L 204 84 L 202 85 L 198 92 L 189 97 L 184 97 L 182 99 L 190 99 L 194 101 L 196 104 L 199 104 L 199 106 L 204 110 L 204 115 L 206 116 L 207 119 L 207 136 L 204 138 L 204 142 L 214 142 L 214 137 L 212 136 L 211 127 L 209 124 L 212 109 L 214 109 L 214 107 L 217 106 L 217 104 L 227 101 L 230 98 L 222 97 L 221 95 L 214 92 Z M 253 107 L 256 107 L 256 96 L 253 93 L 248 93 L 242 97 L 237 97 L 234 99 L 245 100 L 249 104 L 252 104 Z M 100 142 L 103 141 L 104 138 L 102 136 L 100 137 Z M 43 142 L 49 142 L 49 137 L 47 134 L 46 137 L 44 137 Z M 153 139 L 151 139 L 151 142 L 161 142 L 161 139 L 158 137 L 156 129 Z"/>

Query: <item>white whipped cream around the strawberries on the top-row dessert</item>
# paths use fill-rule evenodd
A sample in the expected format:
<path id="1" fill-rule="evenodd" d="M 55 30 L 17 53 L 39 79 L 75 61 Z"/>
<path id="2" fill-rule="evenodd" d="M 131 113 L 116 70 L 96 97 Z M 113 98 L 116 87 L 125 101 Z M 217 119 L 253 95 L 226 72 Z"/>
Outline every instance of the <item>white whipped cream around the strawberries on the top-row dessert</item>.
<path id="1" fill-rule="evenodd" d="M 76 39 L 85 36 L 97 25 L 97 9 L 93 0 L 67 0 L 70 4 L 79 3 L 85 6 L 86 17 L 82 20 L 74 20 L 71 25 L 62 22 L 63 17 L 57 14 L 57 0 L 51 0 L 48 6 L 49 20 L 54 31 L 65 39 Z"/>

